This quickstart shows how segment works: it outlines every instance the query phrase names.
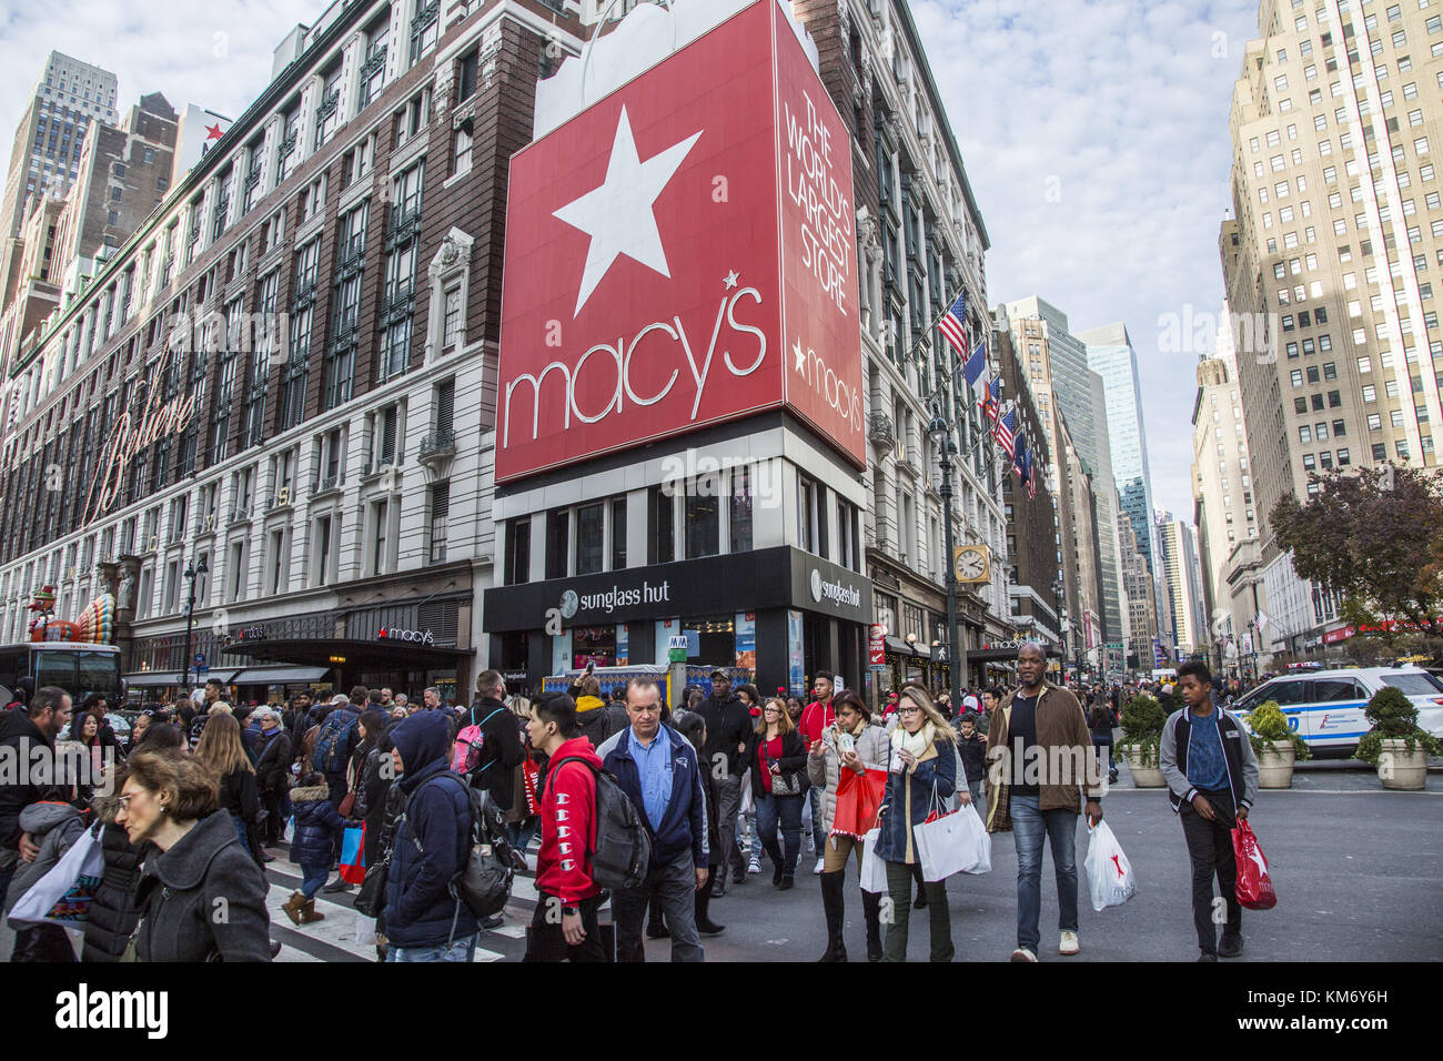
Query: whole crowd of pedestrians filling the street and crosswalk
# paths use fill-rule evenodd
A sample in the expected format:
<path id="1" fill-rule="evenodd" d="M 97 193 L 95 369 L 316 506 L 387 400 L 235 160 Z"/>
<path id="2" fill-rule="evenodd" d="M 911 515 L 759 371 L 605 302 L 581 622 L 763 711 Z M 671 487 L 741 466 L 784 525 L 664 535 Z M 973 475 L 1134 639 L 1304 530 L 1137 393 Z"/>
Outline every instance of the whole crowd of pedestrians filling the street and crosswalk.
<path id="1" fill-rule="evenodd" d="M 1242 947 L 1228 833 L 1255 800 L 1257 762 L 1206 667 L 1179 674 L 1175 689 L 1152 691 L 1170 712 L 1160 759 L 1192 860 L 1199 951 L 1215 960 Z M 925 909 L 929 957 L 949 961 L 945 881 L 926 879 L 918 830 L 971 807 L 987 831 L 1016 837 L 1012 959 L 1040 953 L 1045 849 L 1058 953 L 1076 954 L 1078 816 L 1102 818 L 1104 778 L 1117 778 L 1113 732 L 1137 690 L 1052 684 L 1036 645 L 1019 651 L 1017 676 L 1009 690 L 965 691 L 955 712 L 919 684 L 873 710 L 828 671 L 804 703 L 733 687 L 719 670 L 710 690 L 683 690 L 675 709 L 655 680 L 603 691 L 595 674 L 528 699 L 488 670 L 456 709 L 434 689 L 407 703 L 359 686 L 329 700 L 302 693 L 283 710 L 232 707 L 211 683 L 175 713 L 149 709 L 127 741 L 105 725 L 101 699 L 72 716 L 62 690 L 23 690 L 0 717 L 0 749 L 39 748 L 56 761 L 78 751 L 108 772 L 102 785 L 98 774 L 68 787 L 0 784 L 0 895 L 9 911 L 89 831 L 104 870 L 79 957 L 264 961 L 280 948 L 266 908 L 273 852 L 289 842 L 302 883 L 281 909 L 304 930 L 325 918 L 322 889 L 355 886 L 338 873 L 355 830 L 356 860 L 384 870 L 368 905 L 378 957 L 469 961 L 481 930 L 502 920 L 499 909 L 478 915 L 455 883 L 473 857 L 481 805 L 505 818 L 496 849 L 512 869 L 531 868 L 525 853 L 540 836 L 530 961 L 639 961 L 646 938 L 668 938 L 674 961 L 701 961 L 703 938 L 724 931 L 714 901 L 756 876 L 762 859 L 775 889 L 795 888 L 804 840 L 820 876 L 823 961 L 847 960 L 847 863 L 861 881 L 864 855 L 879 866 L 859 895 L 867 960 L 906 960 L 909 920 Z M 633 852 L 629 870 L 613 865 L 618 852 Z M 1214 879 L 1228 898 L 1221 941 Z M 212 924 L 198 911 L 219 896 L 229 912 Z M 78 957 L 53 924 L 14 927 L 12 960 Z"/>

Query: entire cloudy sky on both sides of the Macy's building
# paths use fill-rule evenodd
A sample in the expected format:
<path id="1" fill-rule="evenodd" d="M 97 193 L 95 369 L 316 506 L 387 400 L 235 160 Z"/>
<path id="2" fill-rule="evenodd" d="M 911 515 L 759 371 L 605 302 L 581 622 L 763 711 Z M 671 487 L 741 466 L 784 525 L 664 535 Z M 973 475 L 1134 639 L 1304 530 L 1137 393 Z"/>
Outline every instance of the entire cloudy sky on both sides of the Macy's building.
<path id="1" fill-rule="evenodd" d="M 0 130 L 49 51 L 238 117 L 271 52 L 323 0 L 0 0 Z M 1196 349 L 1160 319 L 1216 313 L 1228 105 L 1254 0 L 912 0 L 993 250 L 991 300 L 1040 294 L 1082 331 L 1124 320 L 1137 346 L 1159 505 L 1192 511 Z"/>

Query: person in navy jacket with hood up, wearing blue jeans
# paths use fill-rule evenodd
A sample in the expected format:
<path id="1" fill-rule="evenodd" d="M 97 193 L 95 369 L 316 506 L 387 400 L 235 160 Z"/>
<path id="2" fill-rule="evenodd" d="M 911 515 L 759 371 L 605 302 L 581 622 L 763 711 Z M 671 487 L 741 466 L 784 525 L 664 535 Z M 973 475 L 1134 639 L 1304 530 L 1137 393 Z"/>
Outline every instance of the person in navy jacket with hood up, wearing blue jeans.
<path id="1" fill-rule="evenodd" d="M 470 961 L 481 930 L 452 889 L 470 843 L 470 797 L 447 772 L 450 720 L 421 712 L 391 730 L 405 811 L 385 886 L 387 961 Z"/>

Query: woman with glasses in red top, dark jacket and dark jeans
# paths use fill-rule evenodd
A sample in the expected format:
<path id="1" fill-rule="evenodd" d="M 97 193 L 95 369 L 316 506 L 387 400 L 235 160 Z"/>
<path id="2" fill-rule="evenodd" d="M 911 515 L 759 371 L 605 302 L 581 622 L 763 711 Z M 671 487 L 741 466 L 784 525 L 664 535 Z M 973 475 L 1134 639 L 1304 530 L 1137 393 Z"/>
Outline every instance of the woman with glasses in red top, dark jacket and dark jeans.
<path id="1" fill-rule="evenodd" d="M 802 850 L 802 798 L 807 793 L 807 745 L 786 713 L 786 702 L 773 696 L 762 706 L 743 762 L 752 772 L 756 830 L 772 860 L 772 883 L 788 891 Z M 781 823 L 782 843 L 776 842 Z M 785 847 L 784 847 L 785 844 Z"/>

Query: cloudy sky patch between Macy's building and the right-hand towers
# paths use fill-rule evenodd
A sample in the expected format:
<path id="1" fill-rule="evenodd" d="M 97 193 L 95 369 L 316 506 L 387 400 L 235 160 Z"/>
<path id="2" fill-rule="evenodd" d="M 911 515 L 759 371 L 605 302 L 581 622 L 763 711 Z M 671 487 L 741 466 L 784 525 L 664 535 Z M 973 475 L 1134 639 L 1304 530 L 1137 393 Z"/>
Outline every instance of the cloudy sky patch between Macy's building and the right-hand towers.
<path id="1" fill-rule="evenodd" d="M 1228 114 L 1255 0 L 913 0 L 912 14 L 993 241 L 991 302 L 1040 294 L 1075 331 L 1127 322 L 1156 502 L 1190 520 L 1196 354 L 1160 354 L 1159 318 L 1222 303 Z"/>

